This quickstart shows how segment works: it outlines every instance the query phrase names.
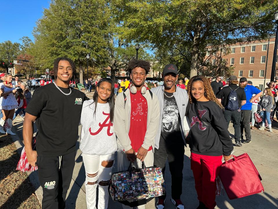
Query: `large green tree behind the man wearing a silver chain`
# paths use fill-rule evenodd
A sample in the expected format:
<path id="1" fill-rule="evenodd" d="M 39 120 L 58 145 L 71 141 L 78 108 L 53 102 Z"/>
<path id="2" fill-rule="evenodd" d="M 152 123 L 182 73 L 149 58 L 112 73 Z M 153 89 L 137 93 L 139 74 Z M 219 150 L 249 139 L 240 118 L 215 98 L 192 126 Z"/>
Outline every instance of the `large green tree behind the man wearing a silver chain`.
<path id="1" fill-rule="evenodd" d="M 52 0 L 34 28 L 32 52 L 36 64 L 51 68 L 56 57 L 74 60 L 83 80 L 90 54 L 90 65 L 107 60 L 107 34 L 110 13 L 104 0 Z"/>

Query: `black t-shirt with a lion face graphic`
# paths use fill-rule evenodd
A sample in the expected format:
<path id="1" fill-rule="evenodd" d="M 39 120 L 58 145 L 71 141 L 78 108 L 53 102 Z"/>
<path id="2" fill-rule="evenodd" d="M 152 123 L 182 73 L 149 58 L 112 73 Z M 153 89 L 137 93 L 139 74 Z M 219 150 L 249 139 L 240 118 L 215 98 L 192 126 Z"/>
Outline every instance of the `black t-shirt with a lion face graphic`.
<path id="1" fill-rule="evenodd" d="M 180 132 L 180 115 L 178 105 L 173 93 L 168 93 L 166 91 L 164 91 L 164 106 L 160 135 L 160 141 L 162 141 L 162 143 L 163 140 L 169 143 L 179 141 L 183 144 Z"/>

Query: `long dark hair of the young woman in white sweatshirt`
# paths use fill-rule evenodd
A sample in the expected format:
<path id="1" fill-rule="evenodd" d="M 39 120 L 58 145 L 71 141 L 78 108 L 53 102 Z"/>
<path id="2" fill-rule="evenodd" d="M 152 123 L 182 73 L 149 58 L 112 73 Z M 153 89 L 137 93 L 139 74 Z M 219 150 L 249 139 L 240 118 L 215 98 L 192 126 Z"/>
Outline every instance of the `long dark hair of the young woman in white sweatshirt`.
<path id="1" fill-rule="evenodd" d="M 99 87 L 102 82 L 108 82 L 108 83 L 111 84 L 111 95 L 108 98 L 107 102 L 109 103 L 109 107 L 110 107 L 110 122 L 113 122 L 113 119 L 114 119 L 114 106 L 115 106 L 114 82 L 110 78 L 102 78 L 96 84 L 96 87 Z M 96 118 L 96 106 L 98 104 L 98 92 L 96 90 L 95 90 L 95 93 L 94 93 L 94 96 L 93 96 L 93 100 L 94 100 L 94 102 L 92 102 L 90 105 L 95 103 L 94 116 Z"/>

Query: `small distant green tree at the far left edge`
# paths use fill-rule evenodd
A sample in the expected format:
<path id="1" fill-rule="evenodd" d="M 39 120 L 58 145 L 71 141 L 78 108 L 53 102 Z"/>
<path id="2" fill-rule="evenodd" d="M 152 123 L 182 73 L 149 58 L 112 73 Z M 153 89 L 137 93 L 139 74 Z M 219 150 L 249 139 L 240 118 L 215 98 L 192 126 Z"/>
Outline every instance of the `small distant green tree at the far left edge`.
<path id="1" fill-rule="evenodd" d="M 11 41 L 0 43 L 1 67 L 4 68 L 7 73 L 9 73 L 9 68 L 13 67 L 13 60 L 15 60 L 17 55 L 20 53 L 19 46 L 19 43 L 12 43 Z"/>

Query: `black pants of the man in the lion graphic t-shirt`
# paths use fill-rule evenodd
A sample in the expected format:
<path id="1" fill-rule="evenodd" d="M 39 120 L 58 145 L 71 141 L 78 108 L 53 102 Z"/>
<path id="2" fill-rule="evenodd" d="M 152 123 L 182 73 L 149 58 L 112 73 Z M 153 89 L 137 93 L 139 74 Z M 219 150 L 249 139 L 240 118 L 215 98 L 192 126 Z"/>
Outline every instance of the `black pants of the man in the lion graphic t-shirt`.
<path id="1" fill-rule="evenodd" d="M 169 170 L 172 177 L 172 198 L 180 199 L 182 194 L 182 169 L 184 159 L 184 142 L 182 138 L 173 138 L 172 141 L 167 142 L 160 138 L 159 149 L 154 150 L 153 165 L 160 167 L 163 175 L 165 173 L 166 160 L 168 159 Z M 170 182 L 165 182 L 165 185 L 169 185 Z M 165 200 L 166 194 L 158 197 L 158 199 Z"/>

